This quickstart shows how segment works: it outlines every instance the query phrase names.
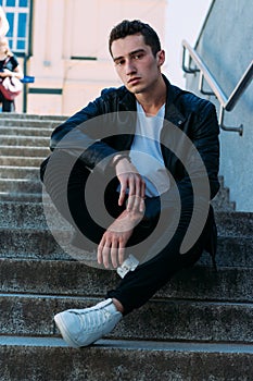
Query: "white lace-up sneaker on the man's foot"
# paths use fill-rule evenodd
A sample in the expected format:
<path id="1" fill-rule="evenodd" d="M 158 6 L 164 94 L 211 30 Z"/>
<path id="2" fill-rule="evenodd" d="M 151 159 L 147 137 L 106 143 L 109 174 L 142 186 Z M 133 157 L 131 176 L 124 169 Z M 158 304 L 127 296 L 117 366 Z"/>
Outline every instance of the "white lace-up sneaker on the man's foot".
<path id="1" fill-rule="evenodd" d="M 54 321 L 65 342 L 77 348 L 87 346 L 111 332 L 123 315 L 106 299 L 94 307 L 67 309 L 54 316 Z"/>

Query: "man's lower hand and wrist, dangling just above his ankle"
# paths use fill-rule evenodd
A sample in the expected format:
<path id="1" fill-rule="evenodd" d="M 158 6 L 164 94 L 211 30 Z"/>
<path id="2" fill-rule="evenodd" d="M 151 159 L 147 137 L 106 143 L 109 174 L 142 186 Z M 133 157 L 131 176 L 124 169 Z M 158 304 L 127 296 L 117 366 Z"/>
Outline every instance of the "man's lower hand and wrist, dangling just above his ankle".
<path id="1" fill-rule="evenodd" d="M 124 261 L 125 247 L 134 228 L 142 219 L 142 213 L 124 210 L 103 234 L 98 247 L 98 263 L 110 267 L 110 257 L 114 268 Z"/>

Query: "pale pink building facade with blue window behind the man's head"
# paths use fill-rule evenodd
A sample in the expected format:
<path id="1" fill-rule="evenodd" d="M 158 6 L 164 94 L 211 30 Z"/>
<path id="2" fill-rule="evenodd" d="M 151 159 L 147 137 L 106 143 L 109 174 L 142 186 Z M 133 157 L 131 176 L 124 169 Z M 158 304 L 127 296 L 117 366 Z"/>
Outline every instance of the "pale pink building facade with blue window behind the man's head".
<path id="1" fill-rule="evenodd" d="M 164 41 L 167 0 L 0 0 L 25 74 L 16 111 L 68 115 L 118 86 L 107 37 L 124 19 L 150 23 Z"/>

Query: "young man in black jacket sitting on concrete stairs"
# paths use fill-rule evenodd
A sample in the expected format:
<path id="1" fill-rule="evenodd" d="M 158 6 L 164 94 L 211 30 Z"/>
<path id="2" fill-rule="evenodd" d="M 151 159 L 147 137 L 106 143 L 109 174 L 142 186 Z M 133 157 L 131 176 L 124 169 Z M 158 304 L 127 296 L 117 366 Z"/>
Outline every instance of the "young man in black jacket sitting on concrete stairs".
<path id="1" fill-rule="evenodd" d="M 204 249 L 215 251 L 210 199 L 219 188 L 219 128 L 214 106 L 169 84 L 161 72 L 165 52 L 148 24 L 123 21 L 112 29 L 109 47 L 124 86 L 103 90 L 60 125 L 52 134 L 53 152 L 41 165 L 58 209 L 97 245 L 98 263 L 118 268 L 129 253 L 137 259 L 104 302 L 54 317 L 74 347 L 111 332 Z M 104 183 L 97 198 L 104 198 L 110 222 L 100 224 L 91 216 L 84 196 L 90 175 Z"/>

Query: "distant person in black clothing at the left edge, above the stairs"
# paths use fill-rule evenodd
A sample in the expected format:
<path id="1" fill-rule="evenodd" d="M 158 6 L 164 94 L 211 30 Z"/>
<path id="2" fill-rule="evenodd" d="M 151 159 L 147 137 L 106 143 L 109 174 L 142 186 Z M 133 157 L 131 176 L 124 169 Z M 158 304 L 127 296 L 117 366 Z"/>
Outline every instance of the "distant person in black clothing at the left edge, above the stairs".
<path id="1" fill-rule="evenodd" d="M 11 52 L 7 37 L 0 37 L 0 79 L 7 76 L 15 76 L 18 79 L 24 77 L 23 70 L 17 58 Z M 3 112 L 12 112 L 15 110 L 14 100 L 5 99 L 0 90 L 0 102 Z"/>

